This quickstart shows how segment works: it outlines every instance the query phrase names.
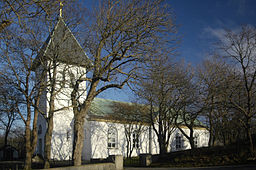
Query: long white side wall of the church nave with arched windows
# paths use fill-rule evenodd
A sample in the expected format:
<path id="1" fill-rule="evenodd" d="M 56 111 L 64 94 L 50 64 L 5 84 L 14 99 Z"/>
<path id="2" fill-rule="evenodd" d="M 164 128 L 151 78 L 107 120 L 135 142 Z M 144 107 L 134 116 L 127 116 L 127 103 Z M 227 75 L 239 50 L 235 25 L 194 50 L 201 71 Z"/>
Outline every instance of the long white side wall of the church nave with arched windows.
<path id="1" fill-rule="evenodd" d="M 136 126 L 136 125 L 133 125 Z M 115 147 L 108 146 L 108 131 L 110 129 L 117 130 L 117 141 Z M 134 128 L 135 129 L 135 128 Z M 183 128 L 189 134 L 189 129 Z M 197 136 L 197 147 L 208 146 L 208 131 L 205 128 L 195 128 L 194 134 Z M 138 156 L 143 153 L 159 154 L 159 146 L 157 135 L 151 130 L 152 139 L 150 140 L 150 126 L 144 125 L 142 132 L 139 135 L 139 147 L 133 149 L 132 156 Z M 176 136 L 181 137 L 180 147 L 177 147 Z M 131 142 L 133 145 L 133 135 L 131 135 Z M 150 144 L 151 143 L 151 144 Z M 83 148 L 83 160 L 107 158 L 109 155 L 123 155 L 126 157 L 127 139 L 125 137 L 124 124 L 115 123 L 111 121 L 87 121 L 85 125 L 85 142 Z M 150 148 L 151 146 L 151 148 Z M 190 149 L 189 141 L 182 135 L 182 133 L 175 129 L 171 135 L 168 151 L 178 151 Z"/>

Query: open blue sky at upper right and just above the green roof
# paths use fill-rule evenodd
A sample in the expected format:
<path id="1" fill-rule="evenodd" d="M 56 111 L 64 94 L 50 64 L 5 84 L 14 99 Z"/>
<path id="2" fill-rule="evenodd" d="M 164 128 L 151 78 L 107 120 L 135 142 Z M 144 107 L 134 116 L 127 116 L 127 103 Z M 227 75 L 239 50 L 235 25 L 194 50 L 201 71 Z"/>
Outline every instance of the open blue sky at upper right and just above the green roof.
<path id="1" fill-rule="evenodd" d="M 196 66 L 213 51 L 225 29 L 256 25 L 256 0 L 167 0 L 176 15 L 181 38 L 178 59 Z M 134 101 L 128 90 L 110 90 L 100 97 Z"/>

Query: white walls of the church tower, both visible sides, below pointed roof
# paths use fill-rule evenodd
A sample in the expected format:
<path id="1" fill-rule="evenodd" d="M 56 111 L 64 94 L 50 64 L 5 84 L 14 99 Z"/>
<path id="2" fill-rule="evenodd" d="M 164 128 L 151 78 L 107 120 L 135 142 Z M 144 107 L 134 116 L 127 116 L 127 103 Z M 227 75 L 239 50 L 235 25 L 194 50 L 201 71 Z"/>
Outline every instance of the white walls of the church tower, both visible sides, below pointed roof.
<path id="1" fill-rule="evenodd" d="M 37 74 L 40 74 L 38 69 Z M 52 73 L 52 72 L 51 72 Z M 52 135 L 52 150 L 51 158 L 56 160 L 68 160 L 72 158 L 72 139 L 73 139 L 73 110 L 71 107 L 70 96 L 72 92 L 71 78 L 74 80 L 78 78 L 85 78 L 86 69 L 73 65 L 66 65 L 59 63 L 57 67 L 57 85 L 55 88 L 56 99 L 54 101 L 55 110 L 53 117 L 53 135 Z M 37 75 L 38 77 L 40 75 Z M 46 82 L 49 82 L 49 77 L 52 75 L 47 74 Z M 80 101 L 83 101 L 86 96 L 86 82 L 82 82 L 79 86 Z M 44 113 L 49 111 L 49 89 L 43 92 L 40 98 L 40 110 Z M 42 134 L 38 136 L 38 144 L 36 152 L 44 152 L 44 135 L 47 128 L 46 120 L 42 115 L 38 117 L 38 126 L 42 126 Z M 40 141 L 41 140 L 41 141 Z M 42 144 L 41 144 L 42 142 Z"/>

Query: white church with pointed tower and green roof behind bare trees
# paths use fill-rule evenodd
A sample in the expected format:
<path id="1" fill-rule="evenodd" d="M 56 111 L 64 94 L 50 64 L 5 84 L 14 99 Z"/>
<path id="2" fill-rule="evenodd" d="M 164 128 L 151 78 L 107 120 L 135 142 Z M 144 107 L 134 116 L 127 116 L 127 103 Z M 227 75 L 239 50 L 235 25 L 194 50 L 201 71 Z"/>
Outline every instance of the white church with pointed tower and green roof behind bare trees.
<path id="1" fill-rule="evenodd" d="M 58 50 L 62 49 L 62 50 Z M 71 88 L 69 81 L 71 77 L 85 77 L 87 67 L 90 61 L 83 51 L 82 47 L 71 33 L 63 19 L 60 17 L 50 36 L 47 38 L 38 56 L 34 61 L 34 70 L 37 77 L 40 77 L 42 62 L 48 62 L 51 65 L 51 56 L 58 51 L 57 60 L 58 73 L 57 79 L 65 84 L 56 86 L 56 100 L 53 118 L 53 136 L 51 158 L 54 160 L 70 160 L 72 158 L 72 141 L 73 141 L 73 110 L 71 107 L 70 95 Z M 71 55 L 70 55 L 71 54 Z M 86 61 L 86 62 L 85 62 Z M 85 64 L 84 64 L 85 63 Z M 55 63 L 56 64 L 56 63 Z M 51 78 L 51 71 L 45 77 L 45 81 Z M 86 96 L 86 84 L 81 89 L 80 100 Z M 40 99 L 40 110 L 47 116 L 49 111 L 50 92 L 45 91 Z M 116 121 L 111 119 L 109 115 L 113 114 L 112 105 L 118 103 L 131 105 L 119 101 L 95 98 L 90 112 L 86 117 L 84 125 L 84 146 L 82 152 L 82 160 L 107 158 L 110 155 L 127 155 L 127 135 L 125 128 L 127 121 Z M 38 142 L 37 154 L 44 154 L 44 136 L 46 132 L 46 120 L 44 116 L 39 114 L 38 117 Z M 147 122 L 143 122 L 140 126 L 140 133 L 136 130 L 138 124 L 134 123 L 133 132 L 130 134 L 129 145 L 132 148 L 132 156 L 138 156 L 143 153 L 158 154 L 159 146 L 157 136 Z M 185 132 L 189 130 L 182 127 Z M 195 145 L 197 147 L 208 146 L 209 132 L 198 123 L 194 128 Z M 189 149 L 188 140 L 182 133 L 175 129 L 172 133 L 168 151 L 177 151 Z"/>

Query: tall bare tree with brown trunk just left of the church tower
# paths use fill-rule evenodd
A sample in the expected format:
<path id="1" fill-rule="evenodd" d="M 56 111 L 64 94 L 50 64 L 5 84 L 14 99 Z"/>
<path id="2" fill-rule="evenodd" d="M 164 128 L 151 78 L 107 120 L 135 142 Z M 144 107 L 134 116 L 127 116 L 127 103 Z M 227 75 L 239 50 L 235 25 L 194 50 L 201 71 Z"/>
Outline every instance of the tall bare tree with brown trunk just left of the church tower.
<path id="1" fill-rule="evenodd" d="M 10 36 L 10 33 L 9 33 Z M 13 38 L 15 35 L 11 35 Z M 31 166 L 31 157 L 35 151 L 36 142 L 37 142 L 37 115 L 38 112 L 33 109 L 33 104 L 38 105 L 38 95 L 35 95 L 35 87 L 31 84 L 33 80 L 33 73 L 31 68 L 32 65 L 32 55 L 35 51 L 32 51 L 30 54 L 23 53 L 26 48 L 25 44 L 28 43 L 24 38 L 19 37 L 20 39 L 5 39 L 4 49 L 2 53 L 2 60 L 5 61 L 2 63 L 7 70 L 3 70 L 1 74 L 4 74 L 10 80 L 11 84 L 22 94 L 24 98 L 24 104 L 19 107 L 17 110 L 21 119 L 25 124 L 25 134 L 26 134 L 26 162 L 25 169 L 30 169 Z M 2 41 L 3 42 L 3 41 Z M 18 44 L 23 44 L 19 46 Z M 29 57 L 31 58 L 29 58 Z M 30 59 L 30 60 L 29 60 Z M 17 62 L 20 62 L 19 64 Z M 32 87 L 31 87 L 32 86 Z M 32 104 L 33 102 L 33 104 Z M 22 108 L 22 109 L 21 109 Z M 25 114 L 23 114 L 25 111 Z M 25 116 L 24 116 L 25 115 Z M 34 115 L 34 116 L 33 116 Z M 31 129 L 32 124 L 32 129 Z"/>

